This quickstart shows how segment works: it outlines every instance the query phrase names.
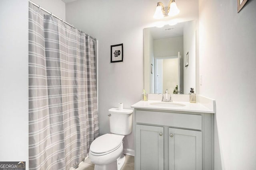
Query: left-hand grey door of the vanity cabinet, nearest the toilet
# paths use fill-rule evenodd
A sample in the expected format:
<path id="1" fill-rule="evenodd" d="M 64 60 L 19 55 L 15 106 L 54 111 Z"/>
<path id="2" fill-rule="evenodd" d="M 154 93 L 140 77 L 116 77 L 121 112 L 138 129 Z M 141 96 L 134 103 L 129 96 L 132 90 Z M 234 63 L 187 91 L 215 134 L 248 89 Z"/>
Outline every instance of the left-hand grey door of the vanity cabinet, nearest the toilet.
<path id="1" fill-rule="evenodd" d="M 136 170 L 164 169 L 164 128 L 136 125 Z"/>

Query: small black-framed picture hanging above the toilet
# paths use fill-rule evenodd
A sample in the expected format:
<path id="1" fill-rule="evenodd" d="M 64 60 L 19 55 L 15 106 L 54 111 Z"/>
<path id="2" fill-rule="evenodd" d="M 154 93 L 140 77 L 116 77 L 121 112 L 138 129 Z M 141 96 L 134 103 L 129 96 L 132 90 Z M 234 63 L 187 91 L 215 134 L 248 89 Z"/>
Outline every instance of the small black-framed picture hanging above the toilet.
<path id="1" fill-rule="evenodd" d="M 110 63 L 123 62 L 123 44 L 111 45 Z"/>

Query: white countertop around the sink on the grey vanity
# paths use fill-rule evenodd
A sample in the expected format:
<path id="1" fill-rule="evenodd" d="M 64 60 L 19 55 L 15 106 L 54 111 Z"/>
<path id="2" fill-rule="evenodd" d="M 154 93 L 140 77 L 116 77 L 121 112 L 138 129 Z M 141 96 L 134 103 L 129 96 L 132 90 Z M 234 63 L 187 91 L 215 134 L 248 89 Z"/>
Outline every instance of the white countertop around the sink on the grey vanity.
<path id="1" fill-rule="evenodd" d="M 133 104 L 132 108 L 137 109 L 158 109 L 158 110 L 170 110 L 170 111 L 188 111 L 188 112 L 198 112 L 198 113 L 215 113 L 215 107 L 207 107 L 204 103 L 190 103 L 190 102 L 176 102 L 173 101 L 173 103 L 179 103 L 184 104 L 185 106 L 178 106 L 178 107 L 166 107 L 166 106 L 154 106 L 150 105 L 150 103 L 153 102 L 161 102 L 159 100 L 148 100 L 148 101 L 140 101 L 136 104 Z M 214 101 L 215 104 L 215 101 Z"/>

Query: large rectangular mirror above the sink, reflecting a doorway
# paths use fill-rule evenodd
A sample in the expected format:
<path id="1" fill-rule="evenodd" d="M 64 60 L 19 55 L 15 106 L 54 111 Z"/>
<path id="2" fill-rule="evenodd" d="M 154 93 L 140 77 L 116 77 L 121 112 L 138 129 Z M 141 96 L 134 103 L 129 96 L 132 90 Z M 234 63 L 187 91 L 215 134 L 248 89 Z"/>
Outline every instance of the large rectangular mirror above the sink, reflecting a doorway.
<path id="1" fill-rule="evenodd" d="M 172 94 L 178 85 L 176 93 L 188 94 L 196 88 L 196 31 L 196 21 L 144 28 L 144 89 L 148 93 L 168 89 Z"/>

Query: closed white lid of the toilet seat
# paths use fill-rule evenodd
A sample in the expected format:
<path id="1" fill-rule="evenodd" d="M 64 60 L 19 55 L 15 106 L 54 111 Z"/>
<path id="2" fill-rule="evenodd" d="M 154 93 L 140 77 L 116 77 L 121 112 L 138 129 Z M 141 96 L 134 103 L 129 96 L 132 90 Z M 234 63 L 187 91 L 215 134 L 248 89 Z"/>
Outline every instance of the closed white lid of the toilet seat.
<path id="1" fill-rule="evenodd" d="M 124 136 L 116 134 L 105 134 L 96 138 L 91 146 L 90 150 L 94 153 L 104 153 L 114 150 L 122 144 Z"/>

